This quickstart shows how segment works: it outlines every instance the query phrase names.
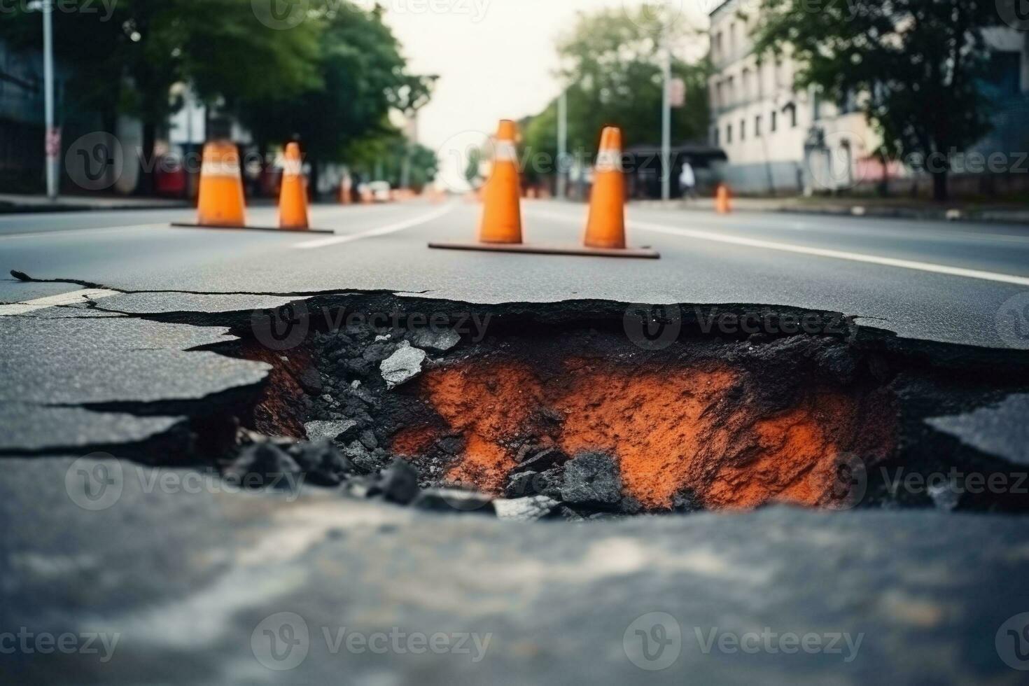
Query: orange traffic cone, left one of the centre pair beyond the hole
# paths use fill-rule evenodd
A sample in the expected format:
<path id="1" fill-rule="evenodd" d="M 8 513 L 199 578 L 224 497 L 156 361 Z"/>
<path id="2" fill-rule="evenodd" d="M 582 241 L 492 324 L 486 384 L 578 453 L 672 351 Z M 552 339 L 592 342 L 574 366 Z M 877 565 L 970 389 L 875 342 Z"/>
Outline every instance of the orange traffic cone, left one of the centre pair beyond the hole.
<path id="1" fill-rule="evenodd" d="M 503 120 L 497 130 L 493 173 L 486 183 L 482 243 L 522 243 L 522 182 L 518 169 L 518 127 Z"/>

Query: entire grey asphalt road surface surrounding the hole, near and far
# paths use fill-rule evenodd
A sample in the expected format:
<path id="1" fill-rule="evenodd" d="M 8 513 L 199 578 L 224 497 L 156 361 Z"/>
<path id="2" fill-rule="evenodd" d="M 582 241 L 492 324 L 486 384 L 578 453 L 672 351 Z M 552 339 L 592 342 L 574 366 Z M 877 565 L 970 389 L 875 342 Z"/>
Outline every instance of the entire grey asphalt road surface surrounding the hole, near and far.
<path id="1" fill-rule="evenodd" d="M 911 338 L 1029 347 L 998 332 L 1001 311 L 1029 304 L 1026 227 L 634 207 L 631 241 L 661 260 L 426 247 L 471 240 L 478 212 L 465 201 L 313 208 L 332 236 L 173 228 L 191 219 L 179 211 L 0 216 L 0 267 L 58 280 L 0 279 L 0 648 L 8 628 L 120 641 L 92 653 L 30 644 L 0 655 L 0 680 L 1022 683 L 1004 643 L 1005 628 L 1029 621 L 1021 517 L 767 508 L 518 525 L 318 489 L 295 502 L 227 493 L 199 468 L 145 466 L 181 464 L 187 416 L 256 393 L 271 367 L 197 350 L 232 339 L 217 316 L 136 314 L 248 313 L 381 289 L 477 303 L 790 305 Z M 274 209 L 249 214 L 275 223 Z M 527 202 L 524 214 L 527 241 L 574 245 L 586 208 Z M 1024 462 L 1015 429 L 1027 401 L 1008 401 L 944 418 L 941 430 Z M 998 448 L 1001 434 L 1019 449 Z M 97 474 L 116 484 L 104 507 Z M 654 658 L 647 640 L 666 641 L 668 627 L 680 644 L 654 644 L 673 646 Z M 862 644 L 846 654 L 704 648 L 765 627 Z M 493 647 L 481 660 L 383 656 L 342 649 L 341 630 L 470 633 Z M 299 646 L 292 671 L 268 636 Z"/>

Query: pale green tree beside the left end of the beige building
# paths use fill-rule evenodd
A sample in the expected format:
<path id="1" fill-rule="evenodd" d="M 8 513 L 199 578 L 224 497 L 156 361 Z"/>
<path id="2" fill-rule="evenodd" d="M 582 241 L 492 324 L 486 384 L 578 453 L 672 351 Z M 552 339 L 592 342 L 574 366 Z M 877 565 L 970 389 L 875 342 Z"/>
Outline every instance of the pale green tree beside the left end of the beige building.
<path id="1" fill-rule="evenodd" d="M 627 145 L 658 145 L 662 124 L 662 24 L 660 16 L 623 9 L 580 13 L 571 31 L 558 42 L 565 67 L 559 78 L 568 87 L 568 144 L 571 151 L 592 158 L 605 125 L 622 128 Z M 698 35 L 679 22 L 665 39 L 680 46 Z M 673 50 L 677 51 L 677 50 Z M 710 110 L 706 63 L 673 59 L 672 73 L 686 83 L 685 108 L 672 111 L 673 141 L 707 136 Z M 555 100 L 527 124 L 524 139 L 535 153 L 557 156 L 558 104 Z M 546 158 L 545 156 L 543 157 Z M 533 170 L 526 170 L 532 180 Z"/>

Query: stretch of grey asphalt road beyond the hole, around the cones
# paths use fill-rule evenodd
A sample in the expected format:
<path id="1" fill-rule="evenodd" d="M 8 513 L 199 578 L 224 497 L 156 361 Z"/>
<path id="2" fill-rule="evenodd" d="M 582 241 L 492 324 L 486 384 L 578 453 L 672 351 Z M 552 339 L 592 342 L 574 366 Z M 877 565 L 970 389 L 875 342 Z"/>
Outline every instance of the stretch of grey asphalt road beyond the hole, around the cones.
<path id="1" fill-rule="evenodd" d="M 631 208 L 631 241 L 659 249 L 660 261 L 426 248 L 470 240 L 478 211 L 464 201 L 318 206 L 312 222 L 335 231 L 327 240 L 172 228 L 170 220 L 191 219 L 178 211 L 0 217 L 0 266 L 127 291 L 793 305 L 856 315 L 901 336 L 990 347 L 1009 345 L 997 315 L 1029 290 L 1029 229 L 1002 224 Z M 524 215 L 528 242 L 575 244 L 586 208 L 527 202 Z M 249 213 L 255 225 L 275 220 L 272 208 Z M 4 280 L 0 299 L 78 288 Z"/>

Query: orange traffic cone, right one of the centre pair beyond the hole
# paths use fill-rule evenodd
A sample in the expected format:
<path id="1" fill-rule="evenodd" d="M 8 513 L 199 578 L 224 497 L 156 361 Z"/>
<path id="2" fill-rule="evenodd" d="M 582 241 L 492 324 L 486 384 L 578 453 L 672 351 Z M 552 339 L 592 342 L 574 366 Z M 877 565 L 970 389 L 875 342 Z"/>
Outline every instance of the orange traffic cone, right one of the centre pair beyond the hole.
<path id="1" fill-rule="evenodd" d="M 626 177 L 622 171 L 622 130 L 615 127 L 604 129 L 600 138 L 583 245 L 626 247 Z"/>

